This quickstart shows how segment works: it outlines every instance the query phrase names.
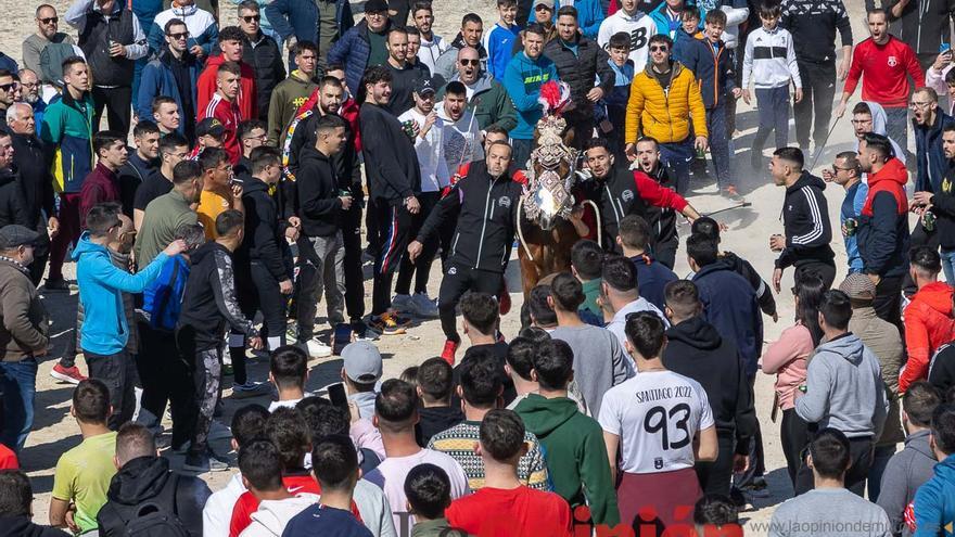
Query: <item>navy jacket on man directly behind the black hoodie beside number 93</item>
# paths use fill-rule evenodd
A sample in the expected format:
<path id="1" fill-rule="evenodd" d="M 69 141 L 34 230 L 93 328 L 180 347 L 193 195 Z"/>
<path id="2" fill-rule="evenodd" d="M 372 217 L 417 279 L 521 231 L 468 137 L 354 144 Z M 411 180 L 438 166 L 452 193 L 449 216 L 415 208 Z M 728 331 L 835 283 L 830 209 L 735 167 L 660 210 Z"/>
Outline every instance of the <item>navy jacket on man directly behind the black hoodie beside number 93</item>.
<path id="1" fill-rule="evenodd" d="M 700 290 L 703 319 L 736 344 L 743 370 L 754 375 L 763 354 L 763 315 L 752 285 L 724 259 L 702 267 L 693 283 Z"/>

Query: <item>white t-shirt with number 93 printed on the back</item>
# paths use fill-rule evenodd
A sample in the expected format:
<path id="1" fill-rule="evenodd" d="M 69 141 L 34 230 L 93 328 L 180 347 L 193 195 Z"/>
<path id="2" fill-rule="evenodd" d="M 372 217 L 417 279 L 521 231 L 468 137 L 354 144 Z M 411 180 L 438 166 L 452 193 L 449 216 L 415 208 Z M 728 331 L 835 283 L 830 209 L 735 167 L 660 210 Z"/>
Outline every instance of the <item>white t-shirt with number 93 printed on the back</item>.
<path id="1" fill-rule="evenodd" d="M 650 474 L 693 468 L 693 436 L 713 426 L 713 412 L 697 381 L 644 371 L 603 395 L 597 421 L 620 436 L 621 470 Z"/>

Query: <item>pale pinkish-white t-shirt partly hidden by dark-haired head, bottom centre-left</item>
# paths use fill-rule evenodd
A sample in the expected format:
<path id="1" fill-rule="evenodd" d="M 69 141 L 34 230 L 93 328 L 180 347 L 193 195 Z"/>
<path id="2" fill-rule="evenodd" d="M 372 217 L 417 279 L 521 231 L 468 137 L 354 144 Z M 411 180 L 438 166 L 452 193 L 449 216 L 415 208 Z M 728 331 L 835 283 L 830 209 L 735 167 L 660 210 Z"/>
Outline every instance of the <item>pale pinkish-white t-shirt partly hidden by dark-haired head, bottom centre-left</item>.
<path id="1" fill-rule="evenodd" d="M 389 457 L 378 465 L 368 475 L 366 480 L 374 483 L 389 499 L 392 509 L 392 517 L 395 523 L 395 529 L 398 535 L 408 535 L 415 526 L 415 517 L 408 516 L 408 498 L 405 496 L 405 478 L 408 472 L 418 464 L 431 463 L 444 470 L 451 484 L 451 499 L 456 500 L 470 491 L 468 488 L 468 477 L 464 470 L 449 455 L 433 449 L 422 449 L 415 455 L 408 457 Z M 405 528 L 402 527 L 402 521 L 405 521 Z"/>

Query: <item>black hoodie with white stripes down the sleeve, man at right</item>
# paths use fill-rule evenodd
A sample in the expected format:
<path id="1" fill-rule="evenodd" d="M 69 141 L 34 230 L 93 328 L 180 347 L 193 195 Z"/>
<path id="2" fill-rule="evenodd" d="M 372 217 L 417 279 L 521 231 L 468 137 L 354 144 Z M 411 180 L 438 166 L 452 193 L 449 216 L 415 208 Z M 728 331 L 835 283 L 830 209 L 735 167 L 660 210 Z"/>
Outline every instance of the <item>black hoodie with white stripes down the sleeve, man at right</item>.
<path id="1" fill-rule="evenodd" d="M 786 247 L 776 259 L 776 268 L 825 263 L 835 265 L 832 225 L 829 222 L 829 205 L 823 191 L 826 183 L 803 170 L 802 176 L 786 188 L 782 202 L 782 226 L 786 230 Z"/>

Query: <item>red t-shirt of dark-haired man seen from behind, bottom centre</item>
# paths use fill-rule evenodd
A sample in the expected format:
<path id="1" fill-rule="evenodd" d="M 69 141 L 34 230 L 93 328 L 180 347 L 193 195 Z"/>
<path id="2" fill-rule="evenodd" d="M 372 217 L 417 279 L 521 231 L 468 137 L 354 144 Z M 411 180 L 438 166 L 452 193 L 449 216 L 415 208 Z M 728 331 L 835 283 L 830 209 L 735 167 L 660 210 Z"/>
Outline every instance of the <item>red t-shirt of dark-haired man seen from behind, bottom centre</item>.
<path id="1" fill-rule="evenodd" d="M 520 486 L 484 487 L 451 502 L 445 511 L 453 527 L 473 535 L 536 537 L 571 534 L 571 508 L 555 493 Z"/>

